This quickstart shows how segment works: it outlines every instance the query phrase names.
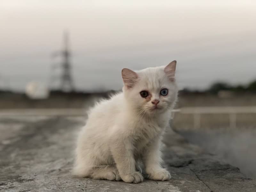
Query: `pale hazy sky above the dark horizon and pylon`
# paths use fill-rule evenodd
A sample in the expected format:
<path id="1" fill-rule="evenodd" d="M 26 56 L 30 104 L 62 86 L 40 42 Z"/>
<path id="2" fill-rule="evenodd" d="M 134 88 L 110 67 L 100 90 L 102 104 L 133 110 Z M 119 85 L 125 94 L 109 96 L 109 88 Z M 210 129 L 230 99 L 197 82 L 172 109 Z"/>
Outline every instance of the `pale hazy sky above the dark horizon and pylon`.
<path id="1" fill-rule="evenodd" d="M 256 1 L 0 0 L 0 88 L 48 83 L 68 29 L 80 90 L 119 89 L 120 71 L 177 60 L 181 87 L 256 79 Z"/>

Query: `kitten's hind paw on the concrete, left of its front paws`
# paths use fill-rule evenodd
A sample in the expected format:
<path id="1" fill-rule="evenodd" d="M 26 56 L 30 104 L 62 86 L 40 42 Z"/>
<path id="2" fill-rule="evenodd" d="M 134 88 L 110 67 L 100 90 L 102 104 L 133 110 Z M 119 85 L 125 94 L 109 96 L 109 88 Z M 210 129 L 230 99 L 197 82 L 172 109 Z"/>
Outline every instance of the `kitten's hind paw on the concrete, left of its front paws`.
<path id="1" fill-rule="evenodd" d="M 95 166 L 92 168 L 92 179 L 121 180 L 117 168 L 113 165 Z"/>

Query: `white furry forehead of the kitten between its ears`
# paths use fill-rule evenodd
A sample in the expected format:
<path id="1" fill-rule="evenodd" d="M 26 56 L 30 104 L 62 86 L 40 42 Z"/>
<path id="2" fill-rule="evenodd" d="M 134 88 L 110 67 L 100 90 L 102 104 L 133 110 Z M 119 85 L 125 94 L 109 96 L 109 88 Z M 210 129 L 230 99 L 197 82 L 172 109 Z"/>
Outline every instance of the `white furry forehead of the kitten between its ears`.
<path id="1" fill-rule="evenodd" d="M 140 85 L 148 89 L 160 88 L 169 83 L 163 67 L 145 68 L 137 72 Z"/>

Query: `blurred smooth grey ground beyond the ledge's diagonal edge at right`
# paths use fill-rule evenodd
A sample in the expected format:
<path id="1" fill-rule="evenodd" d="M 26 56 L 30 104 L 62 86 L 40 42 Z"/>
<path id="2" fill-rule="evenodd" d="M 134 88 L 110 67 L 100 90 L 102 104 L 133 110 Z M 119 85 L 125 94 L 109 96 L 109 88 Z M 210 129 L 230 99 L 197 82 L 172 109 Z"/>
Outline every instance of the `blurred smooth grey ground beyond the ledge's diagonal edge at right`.
<path id="1" fill-rule="evenodd" d="M 256 178 L 256 126 L 179 131 L 189 142 Z"/>

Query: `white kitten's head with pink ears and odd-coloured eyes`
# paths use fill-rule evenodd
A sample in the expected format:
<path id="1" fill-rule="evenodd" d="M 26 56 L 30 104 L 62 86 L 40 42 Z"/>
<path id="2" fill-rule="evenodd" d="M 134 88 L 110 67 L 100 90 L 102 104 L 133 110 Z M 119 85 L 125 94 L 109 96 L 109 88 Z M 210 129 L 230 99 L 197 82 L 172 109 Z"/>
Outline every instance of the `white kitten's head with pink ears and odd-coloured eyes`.
<path id="1" fill-rule="evenodd" d="M 175 60 L 165 67 L 146 68 L 137 72 L 124 68 L 123 92 L 128 104 L 141 114 L 148 115 L 172 109 L 178 92 L 175 69 Z"/>

